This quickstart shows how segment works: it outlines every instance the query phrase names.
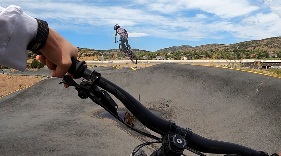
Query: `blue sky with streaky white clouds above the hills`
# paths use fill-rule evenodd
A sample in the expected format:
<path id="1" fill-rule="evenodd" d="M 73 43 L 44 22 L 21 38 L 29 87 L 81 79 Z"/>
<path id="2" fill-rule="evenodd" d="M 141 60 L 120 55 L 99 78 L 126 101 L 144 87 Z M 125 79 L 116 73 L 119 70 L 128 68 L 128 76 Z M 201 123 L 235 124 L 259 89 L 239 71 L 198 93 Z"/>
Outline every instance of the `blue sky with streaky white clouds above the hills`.
<path id="1" fill-rule="evenodd" d="M 281 36 L 280 0 L 0 0 L 9 5 L 47 21 L 74 46 L 97 50 L 118 48 L 115 24 L 132 48 L 147 51 Z"/>

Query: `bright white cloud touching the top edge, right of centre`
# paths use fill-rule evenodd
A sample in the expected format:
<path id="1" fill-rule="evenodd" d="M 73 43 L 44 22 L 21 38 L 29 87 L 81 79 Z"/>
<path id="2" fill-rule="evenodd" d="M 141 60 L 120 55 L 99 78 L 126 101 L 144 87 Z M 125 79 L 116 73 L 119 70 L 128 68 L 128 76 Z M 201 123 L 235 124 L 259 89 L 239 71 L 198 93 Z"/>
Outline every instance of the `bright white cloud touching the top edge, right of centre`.
<path id="1" fill-rule="evenodd" d="M 146 3 L 150 10 L 163 13 L 176 13 L 185 10 L 200 9 L 204 12 L 215 14 L 222 18 L 232 18 L 247 15 L 259 9 L 256 5 L 251 5 L 249 0 L 170 0 L 140 1 Z"/>

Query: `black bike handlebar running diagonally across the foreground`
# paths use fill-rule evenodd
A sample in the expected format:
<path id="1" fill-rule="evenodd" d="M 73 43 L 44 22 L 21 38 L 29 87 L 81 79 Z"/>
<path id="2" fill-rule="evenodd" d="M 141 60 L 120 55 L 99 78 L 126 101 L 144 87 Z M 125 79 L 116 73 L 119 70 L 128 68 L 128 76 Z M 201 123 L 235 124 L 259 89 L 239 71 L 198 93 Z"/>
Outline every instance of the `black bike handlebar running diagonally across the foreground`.
<path id="1" fill-rule="evenodd" d="M 71 57 L 71 61 L 72 64 L 68 72 L 73 75 L 75 74 L 74 72 L 77 70 L 76 66 L 80 63 L 80 61 L 76 60 L 73 57 Z M 84 68 L 83 70 L 84 71 L 80 72 L 83 73 L 81 77 L 88 80 L 92 71 L 87 68 Z M 170 126 L 169 121 L 153 114 L 150 110 L 145 108 L 145 106 L 143 106 L 138 100 L 136 100 L 128 92 L 123 90 L 121 87 L 115 85 L 113 82 L 103 78 L 102 76 L 99 76 L 99 78 L 95 81 L 95 84 L 103 88 L 104 90 L 110 92 L 118 100 L 120 100 L 126 106 L 126 108 L 133 115 L 135 115 L 136 118 L 147 128 L 153 130 L 158 134 L 164 136 L 167 135 Z M 182 128 L 182 130 L 185 129 Z M 239 154 L 239 155 L 262 154 L 259 151 L 250 149 L 242 145 L 207 139 L 195 133 L 192 133 L 190 139 L 187 142 L 187 146 L 192 149 L 198 150 L 200 152 L 214 153 L 214 154 Z"/>

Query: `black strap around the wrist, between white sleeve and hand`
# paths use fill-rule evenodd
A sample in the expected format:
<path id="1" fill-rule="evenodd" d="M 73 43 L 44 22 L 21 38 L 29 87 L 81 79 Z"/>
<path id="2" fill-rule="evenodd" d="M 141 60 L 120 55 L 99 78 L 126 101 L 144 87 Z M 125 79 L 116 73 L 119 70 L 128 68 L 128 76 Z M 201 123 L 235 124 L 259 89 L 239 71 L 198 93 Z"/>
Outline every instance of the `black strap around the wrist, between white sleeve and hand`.
<path id="1" fill-rule="evenodd" d="M 37 24 L 38 24 L 37 32 L 34 39 L 27 45 L 27 50 L 36 53 L 45 45 L 49 35 L 49 27 L 46 21 L 39 20 L 37 18 L 35 19 L 37 20 Z"/>

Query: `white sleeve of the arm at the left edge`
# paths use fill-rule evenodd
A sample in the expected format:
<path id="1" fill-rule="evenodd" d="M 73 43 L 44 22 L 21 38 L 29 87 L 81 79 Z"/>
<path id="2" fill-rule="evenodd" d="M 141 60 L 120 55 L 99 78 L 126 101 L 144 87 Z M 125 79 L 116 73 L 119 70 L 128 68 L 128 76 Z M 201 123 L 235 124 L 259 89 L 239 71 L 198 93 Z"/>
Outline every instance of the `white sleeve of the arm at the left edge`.
<path id="1" fill-rule="evenodd" d="M 0 7 L 0 64 L 19 71 L 26 68 L 26 48 L 37 32 L 37 20 L 19 6 Z"/>

